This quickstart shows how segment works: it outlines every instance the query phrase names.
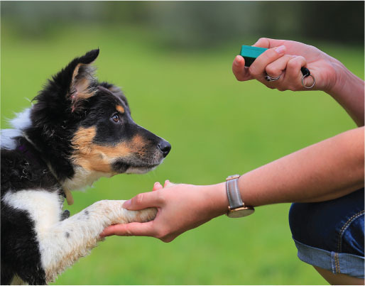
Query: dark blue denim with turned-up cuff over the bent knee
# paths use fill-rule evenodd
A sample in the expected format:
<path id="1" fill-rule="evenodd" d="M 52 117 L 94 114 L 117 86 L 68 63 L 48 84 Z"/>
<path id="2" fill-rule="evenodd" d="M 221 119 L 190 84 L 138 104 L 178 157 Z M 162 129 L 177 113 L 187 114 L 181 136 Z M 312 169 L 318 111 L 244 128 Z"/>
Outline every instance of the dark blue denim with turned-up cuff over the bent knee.
<path id="1" fill-rule="evenodd" d="M 327 202 L 292 204 L 289 224 L 300 260 L 364 278 L 364 188 Z"/>

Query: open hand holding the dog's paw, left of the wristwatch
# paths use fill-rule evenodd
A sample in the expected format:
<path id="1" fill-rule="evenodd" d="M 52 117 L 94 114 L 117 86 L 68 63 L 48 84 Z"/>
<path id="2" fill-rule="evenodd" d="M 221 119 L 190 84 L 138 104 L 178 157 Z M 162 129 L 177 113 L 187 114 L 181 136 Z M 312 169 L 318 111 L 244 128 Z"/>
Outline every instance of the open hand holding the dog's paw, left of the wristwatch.
<path id="1" fill-rule="evenodd" d="M 138 194 L 124 203 L 129 210 L 157 207 L 156 219 L 146 223 L 116 224 L 104 229 L 101 236 L 153 236 L 173 241 L 181 233 L 224 214 L 228 201 L 224 184 L 195 186 L 156 182 L 153 192 Z"/>

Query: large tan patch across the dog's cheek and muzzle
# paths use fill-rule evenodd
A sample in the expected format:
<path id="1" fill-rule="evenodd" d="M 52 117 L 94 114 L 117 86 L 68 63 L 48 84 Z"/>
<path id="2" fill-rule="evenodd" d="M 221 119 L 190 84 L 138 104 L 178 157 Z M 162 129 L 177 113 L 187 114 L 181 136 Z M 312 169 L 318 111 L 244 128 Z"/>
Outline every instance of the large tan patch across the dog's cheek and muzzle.
<path id="1" fill-rule="evenodd" d="M 114 146 L 103 146 L 93 143 L 96 128 L 80 128 L 72 139 L 75 149 L 72 160 L 85 170 L 113 173 L 111 163 L 116 158 L 128 157 L 132 153 L 143 155 L 146 142 L 141 136 L 134 136 L 129 142 Z"/>

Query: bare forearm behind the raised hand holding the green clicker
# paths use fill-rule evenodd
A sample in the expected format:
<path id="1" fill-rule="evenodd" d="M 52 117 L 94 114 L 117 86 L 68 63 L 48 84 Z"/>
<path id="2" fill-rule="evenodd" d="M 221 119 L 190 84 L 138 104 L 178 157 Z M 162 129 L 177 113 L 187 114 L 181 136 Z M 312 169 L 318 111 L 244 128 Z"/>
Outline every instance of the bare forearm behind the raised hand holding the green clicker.
<path id="1" fill-rule="evenodd" d="M 333 59 L 333 58 L 332 58 Z M 352 117 L 357 126 L 364 126 L 364 81 L 333 59 L 334 70 L 338 72 L 336 82 L 327 92 Z"/>

